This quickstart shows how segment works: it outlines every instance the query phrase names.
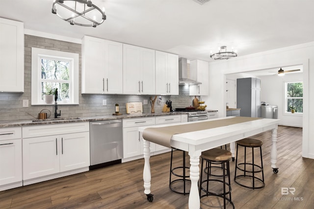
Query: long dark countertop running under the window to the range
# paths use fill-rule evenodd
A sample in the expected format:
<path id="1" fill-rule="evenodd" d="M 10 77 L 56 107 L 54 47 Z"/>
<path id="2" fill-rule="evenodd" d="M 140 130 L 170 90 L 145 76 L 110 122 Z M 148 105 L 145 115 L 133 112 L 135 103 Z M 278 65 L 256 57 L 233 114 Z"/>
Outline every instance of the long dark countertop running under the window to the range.
<path id="1" fill-rule="evenodd" d="M 171 113 L 146 113 L 146 114 L 125 114 L 122 116 L 85 116 L 79 117 L 79 119 L 63 119 L 63 120 L 48 120 L 48 121 L 37 121 L 32 122 L 29 120 L 7 120 L 0 121 L 0 128 L 8 127 L 20 127 L 20 126 L 32 126 L 32 125 L 48 125 L 48 124 L 60 124 L 60 123 L 77 123 L 77 122 L 90 122 L 100 120 L 115 120 L 115 119 L 128 119 L 136 117 L 154 117 L 154 116 L 171 116 L 171 115 L 187 115 L 187 113 L 171 112 Z M 61 117 L 62 118 L 62 117 Z"/>

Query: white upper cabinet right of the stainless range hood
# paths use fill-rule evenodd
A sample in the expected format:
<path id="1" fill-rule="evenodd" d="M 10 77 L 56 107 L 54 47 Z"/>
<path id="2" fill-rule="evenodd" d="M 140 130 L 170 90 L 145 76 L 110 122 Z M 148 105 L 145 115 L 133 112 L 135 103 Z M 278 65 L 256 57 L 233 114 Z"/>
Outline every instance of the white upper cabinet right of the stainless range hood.
<path id="1" fill-rule="evenodd" d="M 190 70 L 196 70 L 197 81 L 202 84 L 190 86 L 190 95 L 208 95 L 209 94 L 209 66 L 208 62 L 203 60 L 190 61 Z"/>

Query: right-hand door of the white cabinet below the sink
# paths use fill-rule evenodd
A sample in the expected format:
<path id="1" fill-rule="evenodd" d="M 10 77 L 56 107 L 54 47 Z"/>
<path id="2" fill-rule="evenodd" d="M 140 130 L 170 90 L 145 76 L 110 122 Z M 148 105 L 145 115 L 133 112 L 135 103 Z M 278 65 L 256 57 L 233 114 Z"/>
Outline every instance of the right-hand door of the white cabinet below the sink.
<path id="1" fill-rule="evenodd" d="M 60 172 L 90 165 L 89 132 L 65 134 L 60 140 Z"/>

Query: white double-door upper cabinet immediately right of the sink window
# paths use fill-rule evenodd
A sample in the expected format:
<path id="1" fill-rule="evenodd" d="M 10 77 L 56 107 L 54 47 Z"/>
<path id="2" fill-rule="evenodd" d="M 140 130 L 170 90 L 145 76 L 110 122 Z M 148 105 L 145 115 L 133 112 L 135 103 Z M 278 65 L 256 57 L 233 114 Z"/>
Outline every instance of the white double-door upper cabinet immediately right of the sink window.
<path id="1" fill-rule="evenodd" d="M 123 93 L 122 43 L 84 36 L 82 93 Z"/>

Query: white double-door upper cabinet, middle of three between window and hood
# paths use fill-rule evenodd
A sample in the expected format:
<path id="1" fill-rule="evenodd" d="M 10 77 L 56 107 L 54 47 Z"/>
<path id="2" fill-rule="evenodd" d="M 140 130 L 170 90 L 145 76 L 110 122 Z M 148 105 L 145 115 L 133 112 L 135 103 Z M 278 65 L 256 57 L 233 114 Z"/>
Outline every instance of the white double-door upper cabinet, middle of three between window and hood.
<path id="1" fill-rule="evenodd" d="M 155 50 L 123 44 L 123 93 L 156 93 Z"/>

